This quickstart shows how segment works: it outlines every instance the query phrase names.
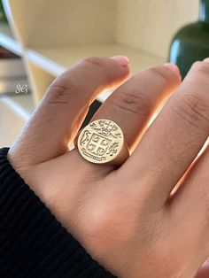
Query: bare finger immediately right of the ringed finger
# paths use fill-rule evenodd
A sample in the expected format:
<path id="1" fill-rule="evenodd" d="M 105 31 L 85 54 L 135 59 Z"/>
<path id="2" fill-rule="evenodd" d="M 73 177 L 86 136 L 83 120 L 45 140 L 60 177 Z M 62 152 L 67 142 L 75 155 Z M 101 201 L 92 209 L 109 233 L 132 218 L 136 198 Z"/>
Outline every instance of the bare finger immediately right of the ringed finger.
<path id="1" fill-rule="evenodd" d="M 143 136 L 133 156 L 120 167 L 143 181 L 153 205 L 165 204 L 209 135 L 209 63 L 197 62 Z M 159 184 L 159 186 L 156 186 Z"/>

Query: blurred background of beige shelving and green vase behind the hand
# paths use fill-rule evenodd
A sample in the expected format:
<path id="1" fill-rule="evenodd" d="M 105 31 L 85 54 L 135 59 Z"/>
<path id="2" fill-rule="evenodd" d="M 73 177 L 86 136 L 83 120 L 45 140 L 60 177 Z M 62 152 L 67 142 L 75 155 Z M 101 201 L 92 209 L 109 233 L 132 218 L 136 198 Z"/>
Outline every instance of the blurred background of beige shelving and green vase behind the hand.
<path id="1" fill-rule="evenodd" d="M 209 0 L 0 1 L 0 147 L 66 68 L 114 55 L 128 56 L 131 74 L 172 61 L 185 76 L 209 57 Z M 109 94 L 97 97 L 89 118 Z"/>

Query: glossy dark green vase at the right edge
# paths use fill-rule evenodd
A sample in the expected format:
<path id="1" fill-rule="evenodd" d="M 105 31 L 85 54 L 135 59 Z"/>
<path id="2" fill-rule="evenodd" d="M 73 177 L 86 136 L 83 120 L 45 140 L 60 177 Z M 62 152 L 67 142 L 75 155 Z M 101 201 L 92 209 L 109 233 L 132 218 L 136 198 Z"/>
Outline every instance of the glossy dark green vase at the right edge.
<path id="1" fill-rule="evenodd" d="M 209 57 L 209 0 L 200 0 L 199 19 L 182 27 L 171 43 L 169 61 L 179 66 L 182 78 L 197 60 Z"/>

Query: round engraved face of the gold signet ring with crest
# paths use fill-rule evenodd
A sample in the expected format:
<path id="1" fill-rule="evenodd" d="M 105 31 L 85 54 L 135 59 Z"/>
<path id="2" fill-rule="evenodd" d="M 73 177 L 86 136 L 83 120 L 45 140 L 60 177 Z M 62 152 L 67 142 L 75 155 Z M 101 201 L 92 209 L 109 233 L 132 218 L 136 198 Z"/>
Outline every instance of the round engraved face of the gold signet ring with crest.
<path id="1" fill-rule="evenodd" d="M 93 163 L 107 163 L 123 148 L 124 136 L 112 120 L 95 120 L 81 130 L 77 146 L 81 156 Z"/>

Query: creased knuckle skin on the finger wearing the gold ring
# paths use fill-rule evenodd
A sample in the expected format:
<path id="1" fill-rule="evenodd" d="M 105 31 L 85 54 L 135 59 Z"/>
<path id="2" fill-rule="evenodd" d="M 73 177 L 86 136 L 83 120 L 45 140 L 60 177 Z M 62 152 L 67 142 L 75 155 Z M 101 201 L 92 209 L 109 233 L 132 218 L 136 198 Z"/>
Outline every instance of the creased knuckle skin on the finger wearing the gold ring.
<path id="1" fill-rule="evenodd" d="M 112 95 L 111 103 L 117 108 L 135 114 L 136 116 L 151 113 L 151 99 L 143 91 L 122 91 Z"/>

